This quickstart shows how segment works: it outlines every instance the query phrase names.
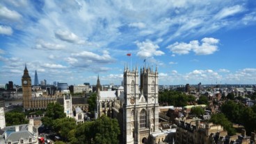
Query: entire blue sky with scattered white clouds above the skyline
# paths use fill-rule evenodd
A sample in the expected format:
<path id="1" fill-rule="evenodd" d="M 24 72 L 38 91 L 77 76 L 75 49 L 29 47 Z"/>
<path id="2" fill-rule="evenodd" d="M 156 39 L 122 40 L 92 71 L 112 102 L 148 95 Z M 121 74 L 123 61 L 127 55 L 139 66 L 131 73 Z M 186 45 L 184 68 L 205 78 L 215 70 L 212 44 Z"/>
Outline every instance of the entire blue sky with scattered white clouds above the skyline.
<path id="1" fill-rule="evenodd" d="M 159 84 L 255 84 L 254 0 L 0 2 L 0 84 L 120 84 L 125 64 Z"/>

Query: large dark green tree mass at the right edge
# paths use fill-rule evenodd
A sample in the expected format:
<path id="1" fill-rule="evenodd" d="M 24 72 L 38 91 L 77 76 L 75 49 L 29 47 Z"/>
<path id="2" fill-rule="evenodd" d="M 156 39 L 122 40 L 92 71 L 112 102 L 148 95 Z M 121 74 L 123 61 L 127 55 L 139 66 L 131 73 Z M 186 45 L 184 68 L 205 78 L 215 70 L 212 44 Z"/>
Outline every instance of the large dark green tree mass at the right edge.
<path id="1" fill-rule="evenodd" d="M 243 125 L 246 132 L 250 133 L 256 130 L 256 105 L 246 107 L 241 103 L 228 100 L 221 106 L 221 111 L 232 123 Z"/>

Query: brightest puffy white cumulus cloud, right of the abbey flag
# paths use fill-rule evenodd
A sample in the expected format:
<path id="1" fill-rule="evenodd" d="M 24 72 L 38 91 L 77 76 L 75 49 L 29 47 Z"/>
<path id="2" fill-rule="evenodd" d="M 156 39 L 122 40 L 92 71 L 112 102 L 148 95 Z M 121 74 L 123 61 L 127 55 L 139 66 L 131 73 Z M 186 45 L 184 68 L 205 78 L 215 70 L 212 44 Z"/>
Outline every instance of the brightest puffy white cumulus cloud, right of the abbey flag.
<path id="1" fill-rule="evenodd" d="M 202 44 L 198 40 L 193 40 L 189 43 L 175 42 L 175 44 L 170 44 L 167 46 L 172 53 L 178 55 L 186 55 L 193 51 L 196 55 L 210 55 L 218 51 L 219 39 L 212 37 L 205 37 L 201 40 Z"/>

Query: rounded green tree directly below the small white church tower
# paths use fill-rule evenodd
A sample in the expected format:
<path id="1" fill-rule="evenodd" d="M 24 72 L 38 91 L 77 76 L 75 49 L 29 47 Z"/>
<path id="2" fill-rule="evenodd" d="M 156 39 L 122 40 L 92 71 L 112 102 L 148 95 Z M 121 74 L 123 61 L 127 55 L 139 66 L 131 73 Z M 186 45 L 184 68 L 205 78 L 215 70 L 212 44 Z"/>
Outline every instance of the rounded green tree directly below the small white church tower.
<path id="1" fill-rule="evenodd" d="M 60 134 L 65 141 L 70 131 L 77 127 L 76 120 L 74 118 L 58 118 L 53 122 L 54 131 Z"/>

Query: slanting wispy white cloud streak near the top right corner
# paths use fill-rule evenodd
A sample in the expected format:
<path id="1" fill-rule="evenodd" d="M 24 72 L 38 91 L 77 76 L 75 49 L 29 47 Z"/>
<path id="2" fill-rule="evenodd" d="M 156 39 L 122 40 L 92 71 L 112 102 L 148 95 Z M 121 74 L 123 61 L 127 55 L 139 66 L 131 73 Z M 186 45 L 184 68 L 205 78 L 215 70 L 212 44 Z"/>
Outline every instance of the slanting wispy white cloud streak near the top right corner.
<path id="1" fill-rule="evenodd" d="M 215 19 L 223 19 L 225 17 L 235 15 L 239 12 L 243 12 L 243 10 L 244 10 L 243 6 L 239 6 L 239 5 L 231 6 L 231 7 L 228 7 L 228 8 L 223 8 L 220 12 L 218 12 L 215 15 L 214 18 Z"/>

